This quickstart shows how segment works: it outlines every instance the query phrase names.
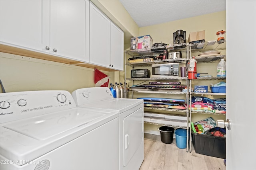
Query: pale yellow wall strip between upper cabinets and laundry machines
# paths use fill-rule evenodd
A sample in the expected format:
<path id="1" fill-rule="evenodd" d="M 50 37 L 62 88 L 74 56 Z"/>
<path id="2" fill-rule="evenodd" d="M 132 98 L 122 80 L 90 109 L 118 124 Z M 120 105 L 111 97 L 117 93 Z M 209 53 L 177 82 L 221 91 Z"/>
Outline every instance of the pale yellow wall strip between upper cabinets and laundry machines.
<path id="1" fill-rule="evenodd" d="M 119 72 L 106 72 L 110 82 L 119 81 Z M 0 79 L 6 92 L 67 90 L 94 87 L 94 69 L 56 63 L 0 52 Z M 2 92 L 2 89 L 0 89 Z"/>

